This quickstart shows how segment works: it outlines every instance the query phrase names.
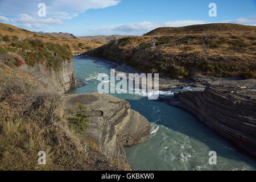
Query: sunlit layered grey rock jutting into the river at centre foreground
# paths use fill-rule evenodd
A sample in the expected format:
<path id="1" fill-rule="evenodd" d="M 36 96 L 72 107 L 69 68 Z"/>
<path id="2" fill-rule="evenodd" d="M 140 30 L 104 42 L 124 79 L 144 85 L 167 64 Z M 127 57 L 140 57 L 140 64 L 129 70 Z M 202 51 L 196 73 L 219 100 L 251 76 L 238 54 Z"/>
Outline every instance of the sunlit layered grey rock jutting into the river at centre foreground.
<path id="1" fill-rule="evenodd" d="M 150 137 L 147 119 L 130 109 L 127 101 L 109 94 L 90 93 L 65 96 L 67 107 L 80 103 L 88 111 L 88 135 L 110 159 L 127 164 L 123 146 L 131 146 Z"/>

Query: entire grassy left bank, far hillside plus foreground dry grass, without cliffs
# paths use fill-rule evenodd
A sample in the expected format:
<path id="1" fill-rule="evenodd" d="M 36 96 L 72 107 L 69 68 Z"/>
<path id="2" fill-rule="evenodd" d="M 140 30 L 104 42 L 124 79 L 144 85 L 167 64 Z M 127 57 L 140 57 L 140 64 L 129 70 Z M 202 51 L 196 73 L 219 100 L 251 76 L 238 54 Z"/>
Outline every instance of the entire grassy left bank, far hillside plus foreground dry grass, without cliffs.
<path id="1" fill-rule="evenodd" d="M 19 69 L 23 64 L 43 63 L 57 70 L 61 61 L 72 60 L 76 50 L 71 45 L 101 44 L 35 34 L 6 24 L 0 24 L 0 33 L 0 171 L 129 169 L 106 158 L 87 135 L 85 106 L 67 107 L 62 94 L 44 88 Z M 39 151 L 46 152 L 46 165 L 38 164 Z"/>

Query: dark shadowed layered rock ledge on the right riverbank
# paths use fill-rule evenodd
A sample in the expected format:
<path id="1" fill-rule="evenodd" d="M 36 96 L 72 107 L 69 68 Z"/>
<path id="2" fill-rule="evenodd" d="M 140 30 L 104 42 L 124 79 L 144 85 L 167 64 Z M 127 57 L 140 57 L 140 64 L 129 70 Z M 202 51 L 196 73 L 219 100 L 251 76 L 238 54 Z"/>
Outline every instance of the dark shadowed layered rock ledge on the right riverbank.
<path id="1" fill-rule="evenodd" d="M 238 85 L 239 84 L 239 85 Z M 255 79 L 209 85 L 202 91 L 176 93 L 170 104 L 191 111 L 197 118 L 238 148 L 256 156 Z"/>

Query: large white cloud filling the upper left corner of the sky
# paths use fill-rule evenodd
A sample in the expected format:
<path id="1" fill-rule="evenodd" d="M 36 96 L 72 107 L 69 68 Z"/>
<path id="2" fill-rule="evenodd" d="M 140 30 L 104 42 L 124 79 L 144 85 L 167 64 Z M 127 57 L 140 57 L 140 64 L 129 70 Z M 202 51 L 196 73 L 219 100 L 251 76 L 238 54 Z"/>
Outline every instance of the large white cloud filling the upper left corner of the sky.
<path id="1" fill-rule="evenodd" d="M 38 4 L 46 4 L 46 17 L 38 16 Z M 119 0 L 0 0 L 0 14 L 14 16 L 9 19 L 0 16 L 0 22 L 20 23 L 24 27 L 45 27 L 63 25 L 61 20 L 72 19 L 89 9 L 102 9 L 115 6 Z"/>

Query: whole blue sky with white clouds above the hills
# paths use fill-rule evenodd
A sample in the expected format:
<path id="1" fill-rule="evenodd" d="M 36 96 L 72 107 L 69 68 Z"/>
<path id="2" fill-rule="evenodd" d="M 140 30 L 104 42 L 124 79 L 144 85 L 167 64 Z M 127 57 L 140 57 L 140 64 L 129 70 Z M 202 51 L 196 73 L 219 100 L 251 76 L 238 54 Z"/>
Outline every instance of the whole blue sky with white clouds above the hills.
<path id="1" fill-rule="evenodd" d="M 46 16 L 38 16 L 38 4 Z M 217 16 L 210 17 L 209 3 Z M 162 26 L 202 23 L 256 25 L 256 0 L 0 0 L 0 22 L 31 31 L 142 35 Z"/>

